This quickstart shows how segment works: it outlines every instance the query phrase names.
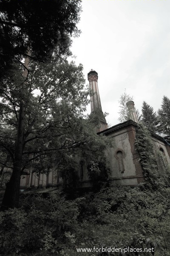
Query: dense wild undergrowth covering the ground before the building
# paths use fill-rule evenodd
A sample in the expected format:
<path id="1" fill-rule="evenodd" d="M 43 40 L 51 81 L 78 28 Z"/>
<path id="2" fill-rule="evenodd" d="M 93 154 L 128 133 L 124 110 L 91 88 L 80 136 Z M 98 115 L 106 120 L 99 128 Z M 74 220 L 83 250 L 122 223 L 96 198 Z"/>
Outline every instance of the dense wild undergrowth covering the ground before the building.
<path id="1" fill-rule="evenodd" d="M 0 253 L 88 256 L 77 248 L 153 247 L 154 254 L 139 255 L 169 256 L 169 205 L 170 189 L 165 187 L 150 192 L 142 186 L 110 186 L 74 201 L 61 192 L 49 193 L 45 199 L 25 196 L 22 208 L 0 212 Z"/>

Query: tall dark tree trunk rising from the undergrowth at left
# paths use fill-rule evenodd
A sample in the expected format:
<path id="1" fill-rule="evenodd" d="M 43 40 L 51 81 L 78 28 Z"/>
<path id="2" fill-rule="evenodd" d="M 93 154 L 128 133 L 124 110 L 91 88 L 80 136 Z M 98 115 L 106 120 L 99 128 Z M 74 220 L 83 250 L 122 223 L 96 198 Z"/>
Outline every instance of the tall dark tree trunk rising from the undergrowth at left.
<path id="1" fill-rule="evenodd" d="M 23 71 L 23 78 L 26 79 L 28 76 L 28 64 L 29 58 L 25 58 L 25 69 Z M 6 191 L 3 197 L 3 202 L 1 206 L 1 210 L 5 210 L 8 208 L 18 207 L 19 203 L 19 195 L 20 195 L 20 175 L 21 175 L 21 167 L 22 167 L 22 154 L 23 154 L 23 136 L 24 136 L 24 116 L 25 116 L 25 99 L 24 99 L 24 91 L 26 81 L 23 83 L 23 87 L 21 88 L 21 99 L 20 99 L 20 109 L 19 109 L 19 118 L 18 118 L 18 126 L 17 126 L 17 137 L 15 143 L 15 153 L 14 153 L 14 163 L 13 163 L 13 171 L 9 182 L 6 184 Z"/>

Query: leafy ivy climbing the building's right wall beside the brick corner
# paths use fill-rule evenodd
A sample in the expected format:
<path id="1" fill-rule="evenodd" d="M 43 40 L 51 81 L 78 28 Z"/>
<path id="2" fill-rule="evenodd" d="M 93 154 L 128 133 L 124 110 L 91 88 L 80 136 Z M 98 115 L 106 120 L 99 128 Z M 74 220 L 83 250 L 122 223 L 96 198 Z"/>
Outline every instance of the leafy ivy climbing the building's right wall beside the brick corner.
<path id="1" fill-rule="evenodd" d="M 150 132 L 143 123 L 136 128 L 136 149 L 144 174 L 144 185 L 150 189 L 168 186 L 170 168 L 167 161 L 151 140 Z"/>

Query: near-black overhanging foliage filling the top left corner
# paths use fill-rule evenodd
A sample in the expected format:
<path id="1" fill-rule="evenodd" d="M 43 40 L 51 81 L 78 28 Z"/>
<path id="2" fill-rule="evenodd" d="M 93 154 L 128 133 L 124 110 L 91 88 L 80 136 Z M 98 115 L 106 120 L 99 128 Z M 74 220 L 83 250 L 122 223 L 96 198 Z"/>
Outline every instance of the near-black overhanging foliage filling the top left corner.
<path id="1" fill-rule="evenodd" d="M 80 33 L 80 12 L 81 1 L 76 0 L 0 0 L 1 75 L 28 55 L 39 61 L 54 51 L 68 55 L 70 36 Z"/>

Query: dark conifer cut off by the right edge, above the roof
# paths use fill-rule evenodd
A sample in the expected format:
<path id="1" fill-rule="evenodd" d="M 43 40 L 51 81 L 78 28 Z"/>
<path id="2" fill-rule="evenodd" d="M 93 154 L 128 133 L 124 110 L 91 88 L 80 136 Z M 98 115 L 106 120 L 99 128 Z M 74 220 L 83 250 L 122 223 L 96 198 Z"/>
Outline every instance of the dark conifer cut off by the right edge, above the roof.
<path id="1" fill-rule="evenodd" d="M 161 108 L 158 110 L 159 131 L 170 135 L 170 99 L 164 96 Z"/>

